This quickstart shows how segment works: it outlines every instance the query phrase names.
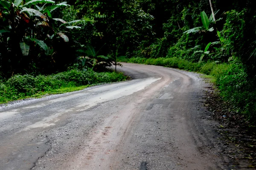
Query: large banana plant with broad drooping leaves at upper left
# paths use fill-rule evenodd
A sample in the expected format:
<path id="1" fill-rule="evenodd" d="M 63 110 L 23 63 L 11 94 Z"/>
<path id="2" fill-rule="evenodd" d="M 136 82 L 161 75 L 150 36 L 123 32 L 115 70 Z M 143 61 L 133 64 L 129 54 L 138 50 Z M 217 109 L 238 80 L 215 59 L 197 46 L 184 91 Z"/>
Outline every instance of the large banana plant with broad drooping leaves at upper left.
<path id="1" fill-rule="evenodd" d="M 66 22 L 60 18 L 52 18 L 52 12 L 63 6 L 70 5 L 67 2 L 55 4 L 53 0 L 0 0 L 0 17 L 3 18 L 3 23 L 5 24 L 0 26 L 0 36 L 4 37 L 0 41 L 5 42 L 7 46 L 10 43 L 9 40 L 15 43 L 15 45 L 11 46 L 17 46 L 19 43 L 20 50 L 25 56 L 29 54 L 30 42 L 39 45 L 46 55 L 53 54 L 52 49 L 47 46 L 44 40 L 36 38 L 37 36 L 41 37 L 38 30 L 42 31 L 41 34 L 45 34 L 43 31 L 52 30 L 50 32 L 68 42 L 69 38 L 62 30 L 64 28 L 81 28 L 72 26 L 73 23 L 81 20 Z M 61 22 L 61 24 L 58 26 L 57 22 Z M 48 28 L 45 29 L 46 27 Z M 20 30 L 20 28 L 23 28 L 23 30 Z"/>

